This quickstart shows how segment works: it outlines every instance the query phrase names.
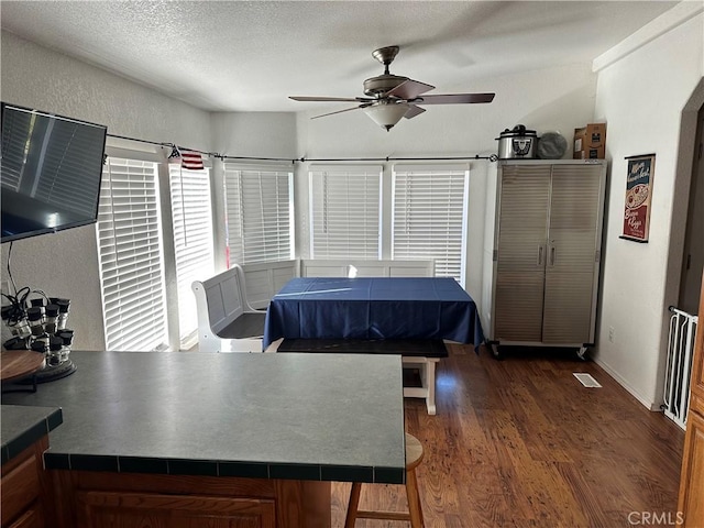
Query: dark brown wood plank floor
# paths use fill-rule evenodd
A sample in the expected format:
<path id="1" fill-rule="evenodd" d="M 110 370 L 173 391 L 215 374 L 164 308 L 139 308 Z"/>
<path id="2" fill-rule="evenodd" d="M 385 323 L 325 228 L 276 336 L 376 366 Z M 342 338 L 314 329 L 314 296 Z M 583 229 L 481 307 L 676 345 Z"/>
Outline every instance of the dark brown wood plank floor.
<path id="1" fill-rule="evenodd" d="M 585 388 L 574 372 L 592 374 L 603 388 Z M 662 526 L 672 526 L 662 513 L 676 519 L 683 431 L 595 363 L 535 350 L 496 361 L 485 350 L 477 356 L 450 345 L 437 389 L 437 416 L 424 400 L 406 399 L 406 429 L 426 452 L 417 474 L 427 528 L 629 527 L 641 512 L 657 513 Z M 350 485 L 332 488 L 337 528 Z M 402 486 L 362 486 L 361 508 L 405 505 Z"/>

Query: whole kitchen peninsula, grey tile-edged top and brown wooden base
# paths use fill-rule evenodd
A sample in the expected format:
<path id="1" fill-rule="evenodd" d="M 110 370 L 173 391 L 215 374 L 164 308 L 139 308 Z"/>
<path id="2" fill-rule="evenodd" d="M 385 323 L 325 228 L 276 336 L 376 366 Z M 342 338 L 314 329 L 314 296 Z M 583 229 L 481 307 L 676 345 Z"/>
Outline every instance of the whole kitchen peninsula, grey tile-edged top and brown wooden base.
<path id="1" fill-rule="evenodd" d="M 52 526 L 329 527 L 330 481 L 403 483 L 398 356 L 73 352 Z M 361 389 L 362 388 L 362 389 Z"/>

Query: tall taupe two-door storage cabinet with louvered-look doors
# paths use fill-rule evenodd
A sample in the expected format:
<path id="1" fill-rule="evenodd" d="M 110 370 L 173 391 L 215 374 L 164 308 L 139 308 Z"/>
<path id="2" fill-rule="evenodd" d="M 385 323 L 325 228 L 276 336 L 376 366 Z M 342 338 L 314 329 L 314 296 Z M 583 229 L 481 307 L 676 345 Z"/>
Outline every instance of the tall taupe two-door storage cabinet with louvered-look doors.
<path id="1" fill-rule="evenodd" d="M 490 344 L 594 343 L 605 188 L 602 160 L 498 162 Z"/>

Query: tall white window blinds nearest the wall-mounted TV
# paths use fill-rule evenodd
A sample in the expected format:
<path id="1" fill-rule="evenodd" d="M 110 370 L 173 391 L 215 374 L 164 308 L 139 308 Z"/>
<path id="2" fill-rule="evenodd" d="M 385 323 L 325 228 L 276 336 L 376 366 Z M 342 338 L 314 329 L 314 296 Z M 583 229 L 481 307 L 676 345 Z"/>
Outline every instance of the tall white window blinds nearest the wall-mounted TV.
<path id="1" fill-rule="evenodd" d="M 155 163 L 108 158 L 97 231 L 108 350 L 163 346 L 167 334 Z"/>

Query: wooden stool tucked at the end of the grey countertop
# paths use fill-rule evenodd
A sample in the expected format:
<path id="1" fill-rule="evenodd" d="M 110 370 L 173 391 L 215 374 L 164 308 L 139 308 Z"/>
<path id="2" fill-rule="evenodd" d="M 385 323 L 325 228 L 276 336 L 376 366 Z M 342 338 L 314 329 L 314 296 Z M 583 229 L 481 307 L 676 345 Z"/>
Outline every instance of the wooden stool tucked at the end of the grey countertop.
<path id="1" fill-rule="evenodd" d="M 420 441 L 406 433 L 406 497 L 408 498 L 408 513 L 397 512 L 369 512 L 358 509 L 360 504 L 360 492 L 362 483 L 352 483 L 350 492 L 350 504 L 344 528 L 354 528 L 356 519 L 385 519 L 385 520 L 410 520 L 413 528 L 424 528 L 422 509 L 420 509 L 420 496 L 418 495 L 418 480 L 416 479 L 416 466 L 422 460 L 422 444 Z"/>

